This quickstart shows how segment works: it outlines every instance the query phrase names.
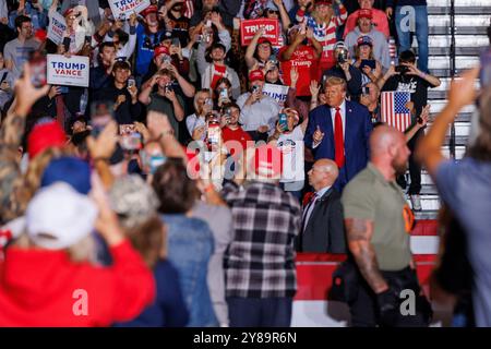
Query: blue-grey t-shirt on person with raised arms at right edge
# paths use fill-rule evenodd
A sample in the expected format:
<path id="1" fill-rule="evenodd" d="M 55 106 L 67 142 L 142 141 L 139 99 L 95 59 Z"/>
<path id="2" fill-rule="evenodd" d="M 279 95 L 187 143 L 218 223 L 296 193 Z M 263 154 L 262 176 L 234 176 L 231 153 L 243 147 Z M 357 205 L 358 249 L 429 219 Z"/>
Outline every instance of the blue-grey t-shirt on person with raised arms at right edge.
<path id="1" fill-rule="evenodd" d="M 472 303 L 476 324 L 491 326 L 491 164 L 465 158 L 442 163 L 434 182 L 467 239 L 474 272 Z"/>

